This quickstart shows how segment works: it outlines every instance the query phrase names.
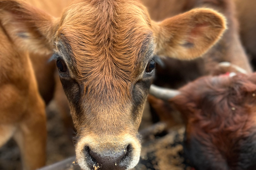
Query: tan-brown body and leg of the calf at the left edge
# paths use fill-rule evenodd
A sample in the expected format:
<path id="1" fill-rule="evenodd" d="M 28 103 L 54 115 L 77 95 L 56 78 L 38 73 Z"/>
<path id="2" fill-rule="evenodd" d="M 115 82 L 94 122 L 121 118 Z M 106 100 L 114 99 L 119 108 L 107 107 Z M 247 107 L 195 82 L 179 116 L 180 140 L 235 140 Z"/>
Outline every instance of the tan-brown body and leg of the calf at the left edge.
<path id="1" fill-rule="evenodd" d="M 18 143 L 23 169 L 45 164 L 45 105 L 26 52 L 21 52 L 0 22 L 0 147 Z"/>

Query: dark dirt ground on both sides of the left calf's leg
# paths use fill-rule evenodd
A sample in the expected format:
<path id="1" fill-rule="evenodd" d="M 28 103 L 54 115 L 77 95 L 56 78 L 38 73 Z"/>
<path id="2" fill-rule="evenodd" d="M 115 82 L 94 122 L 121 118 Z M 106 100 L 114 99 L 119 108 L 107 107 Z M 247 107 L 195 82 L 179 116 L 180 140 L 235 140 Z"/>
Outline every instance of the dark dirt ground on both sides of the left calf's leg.
<path id="1" fill-rule="evenodd" d="M 75 155 L 73 142 L 57 111 L 54 102 L 46 108 L 48 133 L 46 165 Z M 20 151 L 14 140 L 10 140 L 0 148 L 0 170 L 22 170 Z"/>

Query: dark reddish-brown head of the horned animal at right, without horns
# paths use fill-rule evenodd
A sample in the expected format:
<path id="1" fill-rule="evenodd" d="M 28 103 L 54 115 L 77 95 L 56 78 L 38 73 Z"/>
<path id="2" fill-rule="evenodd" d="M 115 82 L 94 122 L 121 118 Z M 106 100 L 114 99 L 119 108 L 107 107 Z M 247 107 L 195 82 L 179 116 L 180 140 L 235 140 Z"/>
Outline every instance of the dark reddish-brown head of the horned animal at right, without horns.
<path id="1" fill-rule="evenodd" d="M 197 170 L 256 168 L 255 78 L 204 77 L 171 99 L 185 120 L 185 155 Z"/>

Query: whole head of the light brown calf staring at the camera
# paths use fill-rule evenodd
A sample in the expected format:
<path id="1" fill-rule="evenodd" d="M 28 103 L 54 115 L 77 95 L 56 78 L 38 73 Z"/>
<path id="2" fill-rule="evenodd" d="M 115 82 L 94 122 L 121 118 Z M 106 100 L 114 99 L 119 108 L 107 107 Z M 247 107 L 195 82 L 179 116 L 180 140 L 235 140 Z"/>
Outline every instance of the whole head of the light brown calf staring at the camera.
<path id="1" fill-rule="evenodd" d="M 61 19 L 1 0 L 0 19 L 20 50 L 54 53 L 77 129 L 77 160 L 84 169 L 134 167 L 154 55 L 196 58 L 226 27 L 222 15 L 206 8 L 156 23 L 131 0 L 74 1 Z"/>

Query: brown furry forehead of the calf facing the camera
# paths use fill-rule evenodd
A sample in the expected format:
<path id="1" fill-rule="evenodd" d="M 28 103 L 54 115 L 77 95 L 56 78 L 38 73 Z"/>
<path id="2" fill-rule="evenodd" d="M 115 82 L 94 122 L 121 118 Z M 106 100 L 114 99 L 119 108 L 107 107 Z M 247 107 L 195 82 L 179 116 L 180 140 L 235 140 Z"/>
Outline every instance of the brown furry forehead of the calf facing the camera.
<path id="1" fill-rule="evenodd" d="M 98 69 L 133 81 L 154 50 L 149 16 L 135 1 L 75 1 L 62 16 L 56 40 L 69 47 L 79 80 Z"/>

